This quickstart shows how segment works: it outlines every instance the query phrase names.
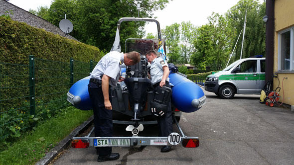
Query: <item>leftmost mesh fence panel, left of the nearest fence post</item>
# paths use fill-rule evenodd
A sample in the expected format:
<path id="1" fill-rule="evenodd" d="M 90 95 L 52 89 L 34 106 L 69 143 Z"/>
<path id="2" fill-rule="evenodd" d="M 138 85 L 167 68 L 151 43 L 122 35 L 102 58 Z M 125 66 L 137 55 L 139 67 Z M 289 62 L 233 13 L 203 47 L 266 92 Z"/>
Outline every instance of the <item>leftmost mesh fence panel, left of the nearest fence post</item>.
<path id="1" fill-rule="evenodd" d="M 0 63 L 0 139 L 28 127 L 29 66 Z"/>

